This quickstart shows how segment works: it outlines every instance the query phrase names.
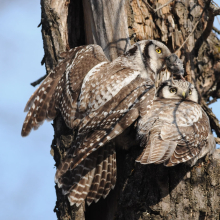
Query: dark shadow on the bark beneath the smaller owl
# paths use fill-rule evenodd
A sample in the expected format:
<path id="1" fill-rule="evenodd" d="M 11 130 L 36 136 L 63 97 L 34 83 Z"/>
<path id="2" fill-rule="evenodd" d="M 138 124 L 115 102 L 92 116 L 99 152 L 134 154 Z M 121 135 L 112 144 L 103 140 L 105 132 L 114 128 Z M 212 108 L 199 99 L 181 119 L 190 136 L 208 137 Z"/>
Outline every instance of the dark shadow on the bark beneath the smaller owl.
<path id="1" fill-rule="evenodd" d="M 138 149 L 138 150 L 137 150 Z M 86 206 L 86 220 L 140 219 L 143 212 L 160 215 L 155 205 L 167 197 L 191 168 L 142 165 L 135 162 L 143 149 L 117 152 L 117 183 L 106 199 Z"/>

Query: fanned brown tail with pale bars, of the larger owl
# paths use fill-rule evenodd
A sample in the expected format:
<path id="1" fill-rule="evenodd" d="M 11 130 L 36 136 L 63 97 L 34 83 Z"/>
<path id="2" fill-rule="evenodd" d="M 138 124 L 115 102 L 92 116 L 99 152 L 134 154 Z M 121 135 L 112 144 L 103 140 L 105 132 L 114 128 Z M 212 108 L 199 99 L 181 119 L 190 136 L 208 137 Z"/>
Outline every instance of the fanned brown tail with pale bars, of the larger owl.
<path id="1" fill-rule="evenodd" d="M 67 158 L 57 170 L 55 182 L 68 195 L 70 205 L 79 206 L 85 199 L 88 205 L 106 198 L 115 187 L 117 167 L 114 146 L 109 143 L 85 158 L 73 170 L 63 173 L 62 169 L 71 163 Z M 72 166 L 73 167 L 73 166 Z"/>

